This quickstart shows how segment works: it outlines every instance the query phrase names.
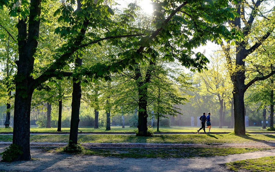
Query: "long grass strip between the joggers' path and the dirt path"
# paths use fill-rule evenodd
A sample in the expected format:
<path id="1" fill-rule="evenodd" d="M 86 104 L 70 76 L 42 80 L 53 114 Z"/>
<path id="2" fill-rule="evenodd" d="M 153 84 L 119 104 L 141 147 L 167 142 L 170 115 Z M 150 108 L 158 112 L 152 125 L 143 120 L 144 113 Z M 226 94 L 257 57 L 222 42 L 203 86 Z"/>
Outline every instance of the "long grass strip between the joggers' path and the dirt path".
<path id="1" fill-rule="evenodd" d="M 0 135 L 0 141 L 12 141 L 12 135 Z M 100 135 L 79 134 L 78 139 L 86 143 L 174 143 L 174 144 L 214 144 L 214 143 L 245 143 L 268 142 L 275 140 L 275 134 L 246 134 L 236 136 L 233 134 L 163 134 L 152 137 L 135 135 Z M 40 134 L 31 135 L 31 142 L 63 142 L 67 143 L 69 135 Z"/>

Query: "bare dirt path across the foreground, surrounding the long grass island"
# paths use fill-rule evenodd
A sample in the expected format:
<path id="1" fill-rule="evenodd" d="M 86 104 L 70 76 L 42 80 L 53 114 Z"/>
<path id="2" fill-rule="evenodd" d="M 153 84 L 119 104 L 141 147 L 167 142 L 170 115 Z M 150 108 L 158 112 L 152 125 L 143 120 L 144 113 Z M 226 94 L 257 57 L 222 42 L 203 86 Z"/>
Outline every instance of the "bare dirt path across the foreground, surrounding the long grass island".
<path id="1" fill-rule="evenodd" d="M 60 143 L 62 144 L 62 143 Z M 202 158 L 110 158 L 101 156 L 87 156 L 87 155 L 70 155 L 65 153 L 53 153 L 45 152 L 36 146 L 60 146 L 60 144 L 52 143 L 36 143 L 31 144 L 31 156 L 32 161 L 17 161 L 12 163 L 0 163 L 0 171 L 13 171 L 13 172 L 138 172 L 138 171 L 158 171 L 158 172 L 230 172 L 224 163 L 233 162 L 243 159 L 260 158 L 264 156 L 275 155 L 275 145 L 266 144 L 248 144 L 246 146 L 253 147 L 270 147 L 268 151 L 257 151 L 252 153 L 235 154 L 228 156 L 217 156 L 217 157 L 202 157 Z M 7 147 L 8 143 L 0 144 L 0 152 Z M 140 144 L 93 144 L 85 145 L 97 146 L 97 147 L 137 147 Z M 149 147 L 169 147 L 169 146 L 183 146 L 183 145 L 169 145 L 169 144 L 146 144 Z M 154 146 L 155 145 L 155 146 Z M 144 147 L 145 144 L 140 146 Z M 195 145 L 184 145 L 194 147 Z M 200 146 L 200 145 L 197 145 Z M 204 145 L 205 146 L 205 145 Z M 215 147 L 229 147 L 229 145 L 207 145 Z M 233 145 L 231 144 L 231 147 Z M 245 144 L 235 144 L 236 147 L 245 146 Z M 233 146 L 234 147 L 234 146 Z"/>

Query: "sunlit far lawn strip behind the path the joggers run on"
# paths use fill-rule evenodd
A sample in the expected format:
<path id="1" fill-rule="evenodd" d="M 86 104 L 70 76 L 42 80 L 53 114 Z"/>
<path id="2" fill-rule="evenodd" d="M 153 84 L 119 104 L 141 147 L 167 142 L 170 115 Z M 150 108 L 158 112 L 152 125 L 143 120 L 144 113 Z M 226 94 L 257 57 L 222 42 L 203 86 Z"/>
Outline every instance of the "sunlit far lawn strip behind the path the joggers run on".
<path id="1" fill-rule="evenodd" d="M 160 128 L 161 132 L 188 132 L 188 133 L 195 133 L 197 129 L 200 127 L 190 127 L 190 126 L 171 126 L 170 128 Z M 79 132 L 134 132 L 134 130 L 137 130 L 137 128 L 130 128 L 129 126 L 125 126 L 125 128 L 122 128 L 122 126 L 111 126 L 111 130 L 106 131 L 105 128 L 99 128 L 99 129 L 94 129 L 94 128 L 79 128 Z M 156 128 L 152 129 L 154 132 L 156 132 Z M 208 131 L 208 129 L 206 129 Z M 31 128 L 31 132 L 56 132 L 57 128 Z M 223 127 L 222 129 L 219 129 L 218 127 L 214 126 L 211 128 L 211 132 L 233 132 L 234 129 L 228 129 L 227 127 Z M 258 127 L 246 127 L 247 132 L 273 132 L 274 131 L 267 131 L 266 129 L 262 129 L 260 126 Z M 5 128 L 0 128 L 0 133 L 5 133 L 5 132 L 13 132 L 13 129 L 5 129 Z M 62 128 L 62 132 L 70 132 L 70 128 Z M 61 133 L 62 133 L 61 132 Z"/>

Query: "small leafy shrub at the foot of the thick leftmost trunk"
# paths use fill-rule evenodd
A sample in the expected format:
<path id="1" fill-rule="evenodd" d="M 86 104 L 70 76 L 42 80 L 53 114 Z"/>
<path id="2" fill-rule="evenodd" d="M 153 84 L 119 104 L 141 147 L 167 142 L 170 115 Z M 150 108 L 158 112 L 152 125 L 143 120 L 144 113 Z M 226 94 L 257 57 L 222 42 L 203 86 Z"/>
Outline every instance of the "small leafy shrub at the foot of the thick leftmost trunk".
<path id="1" fill-rule="evenodd" d="M 2 155 L 2 161 L 11 162 L 16 160 L 19 155 L 23 154 L 22 148 L 16 144 L 11 144 L 5 151 L 0 153 Z"/>

